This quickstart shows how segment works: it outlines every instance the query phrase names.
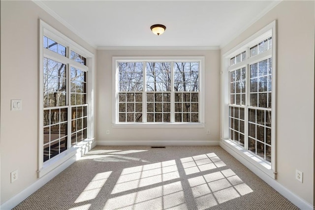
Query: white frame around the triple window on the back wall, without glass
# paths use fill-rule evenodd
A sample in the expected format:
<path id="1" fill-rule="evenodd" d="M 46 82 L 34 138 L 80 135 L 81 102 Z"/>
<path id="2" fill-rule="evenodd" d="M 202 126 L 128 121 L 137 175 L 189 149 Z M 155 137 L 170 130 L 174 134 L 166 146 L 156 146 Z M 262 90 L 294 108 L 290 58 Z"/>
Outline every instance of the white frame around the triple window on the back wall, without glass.
<path id="1" fill-rule="evenodd" d="M 198 62 L 199 63 L 199 122 L 122 122 L 118 120 L 118 63 L 119 62 Z M 204 57 L 202 56 L 170 56 L 170 57 L 113 57 L 113 127 L 119 128 L 204 128 L 205 127 L 205 93 L 204 93 Z M 173 69 L 171 65 L 171 74 Z M 145 87 L 143 87 L 145 88 Z M 172 96 L 171 96 L 172 97 Z M 172 107 L 172 104 L 171 104 Z M 171 115 L 174 109 L 171 108 Z"/>

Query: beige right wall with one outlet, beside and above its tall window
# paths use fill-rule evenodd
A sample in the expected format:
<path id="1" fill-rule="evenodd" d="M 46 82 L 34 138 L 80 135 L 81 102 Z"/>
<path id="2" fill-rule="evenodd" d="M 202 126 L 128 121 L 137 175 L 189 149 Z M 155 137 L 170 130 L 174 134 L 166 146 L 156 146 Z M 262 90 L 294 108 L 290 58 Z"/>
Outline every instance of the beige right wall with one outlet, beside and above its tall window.
<path id="1" fill-rule="evenodd" d="M 314 206 L 315 1 L 282 1 L 221 49 L 278 20 L 277 181 Z M 295 170 L 303 172 L 303 183 Z"/>

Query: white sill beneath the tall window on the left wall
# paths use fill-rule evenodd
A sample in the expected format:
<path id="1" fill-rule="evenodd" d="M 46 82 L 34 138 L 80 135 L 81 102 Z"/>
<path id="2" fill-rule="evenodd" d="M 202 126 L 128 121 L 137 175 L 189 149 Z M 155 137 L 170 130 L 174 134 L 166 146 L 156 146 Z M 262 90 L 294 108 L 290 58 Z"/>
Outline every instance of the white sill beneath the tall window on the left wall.
<path id="1" fill-rule="evenodd" d="M 77 156 L 82 156 L 85 152 L 89 151 L 92 148 L 93 140 L 84 140 L 77 145 L 71 147 L 70 149 L 60 153 L 59 155 L 53 157 L 52 159 L 44 162 L 43 168 L 41 168 L 39 171 L 37 171 L 37 177 L 40 178 L 57 167 L 61 166 L 63 163 L 70 159 L 76 160 Z"/>

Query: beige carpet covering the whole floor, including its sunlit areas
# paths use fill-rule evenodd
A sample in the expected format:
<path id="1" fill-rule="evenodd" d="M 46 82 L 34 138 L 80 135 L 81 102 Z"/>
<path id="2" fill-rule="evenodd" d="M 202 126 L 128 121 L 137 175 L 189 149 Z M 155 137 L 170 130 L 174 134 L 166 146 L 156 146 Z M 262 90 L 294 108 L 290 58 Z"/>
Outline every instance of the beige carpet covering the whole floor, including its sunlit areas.
<path id="1" fill-rule="evenodd" d="M 96 146 L 14 210 L 296 210 L 219 146 Z"/>

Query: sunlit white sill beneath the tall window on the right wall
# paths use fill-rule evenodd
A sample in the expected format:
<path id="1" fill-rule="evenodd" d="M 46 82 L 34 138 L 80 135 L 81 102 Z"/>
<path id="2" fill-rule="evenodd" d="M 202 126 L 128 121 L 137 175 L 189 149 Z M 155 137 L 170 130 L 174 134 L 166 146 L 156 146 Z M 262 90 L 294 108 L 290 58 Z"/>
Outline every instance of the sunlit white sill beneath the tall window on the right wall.
<path id="1" fill-rule="evenodd" d="M 259 169 L 260 171 L 269 175 L 273 179 L 276 179 L 276 174 L 272 170 L 271 165 L 266 161 L 263 161 L 262 159 L 256 157 L 248 150 L 244 149 L 243 147 L 235 144 L 230 140 L 225 139 L 221 139 L 220 145 L 223 149 L 228 151 L 232 156 L 234 156 L 246 167 L 250 168 L 251 170 L 252 168 Z"/>

